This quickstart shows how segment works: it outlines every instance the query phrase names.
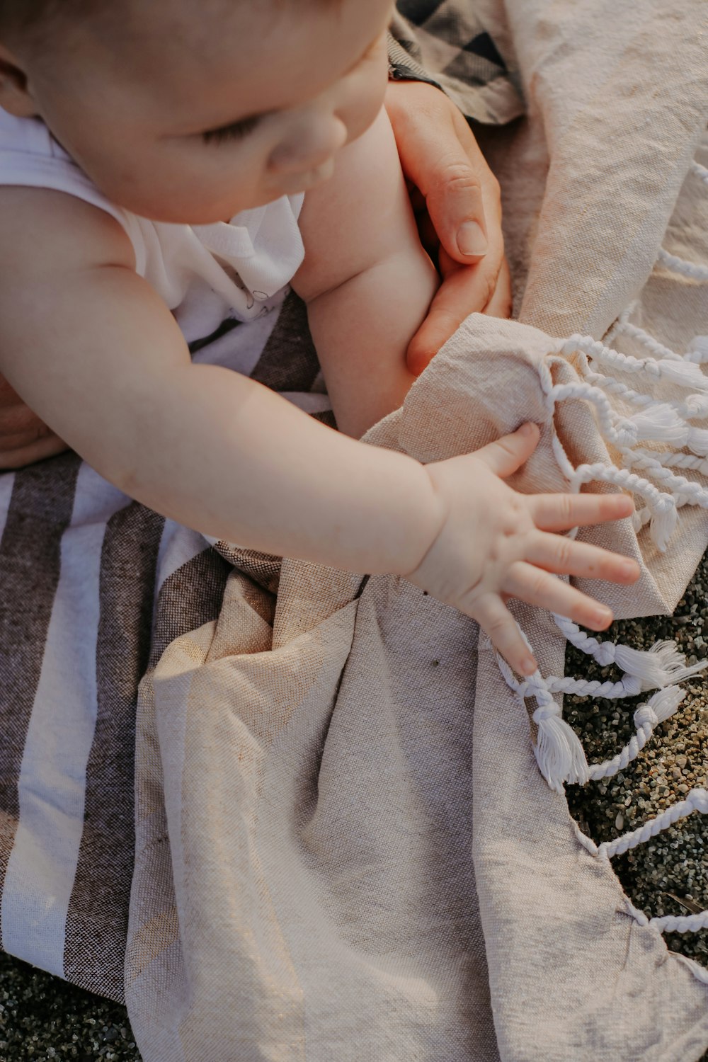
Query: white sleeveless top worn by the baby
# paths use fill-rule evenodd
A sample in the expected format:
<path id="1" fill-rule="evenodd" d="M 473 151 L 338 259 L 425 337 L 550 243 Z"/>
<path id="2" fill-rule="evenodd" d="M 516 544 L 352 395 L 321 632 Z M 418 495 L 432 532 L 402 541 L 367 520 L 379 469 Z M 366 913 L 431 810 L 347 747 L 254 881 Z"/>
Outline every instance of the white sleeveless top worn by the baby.
<path id="1" fill-rule="evenodd" d="M 111 215 L 133 244 L 136 271 L 165 299 L 188 341 L 210 335 L 227 318 L 267 313 L 305 257 L 297 224 L 304 193 L 243 210 L 228 223 L 149 221 L 110 203 L 42 121 L 2 108 L 0 185 L 68 192 Z"/>

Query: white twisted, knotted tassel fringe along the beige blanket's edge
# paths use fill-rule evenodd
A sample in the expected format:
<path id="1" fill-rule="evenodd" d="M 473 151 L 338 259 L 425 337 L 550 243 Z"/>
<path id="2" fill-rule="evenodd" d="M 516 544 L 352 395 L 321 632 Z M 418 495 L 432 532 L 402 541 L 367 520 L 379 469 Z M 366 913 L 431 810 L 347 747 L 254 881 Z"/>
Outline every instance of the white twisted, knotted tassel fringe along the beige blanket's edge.
<path id="1" fill-rule="evenodd" d="M 694 161 L 690 174 L 708 187 L 708 168 Z M 707 266 L 687 261 L 663 249 L 659 250 L 656 264 L 660 270 L 668 270 L 691 281 L 708 284 Z M 679 354 L 631 322 L 633 310 L 634 305 L 620 314 L 604 343 L 590 336 L 574 335 L 558 341 L 549 352 L 551 361 L 553 356 L 572 359 L 580 376 L 577 381 L 554 383 L 550 365 L 545 362 L 539 364 L 538 373 L 552 429 L 553 452 L 569 490 L 575 493 L 585 483 L 600 481 L 632 493 L 641 500 L 641 507 L 637 507 L 633 517 L 635 530 L 639 532 L 649 525 L 653 543 L 664 551 L 676 528 L 681 507 L 708 509 L 708 487 L 691 478 L 691 474 L 696 473 L 708 478 L 708 429 L 690 423 L 708 417 L 708 376 L 702 370 L 708 363 L 708 336 L 696 336 L 687 350 Z M 645 357 L 636 358 L 615 349 L 610 344 L 620 337 L 629 340 L 635 348 L 641 348 Z M 628 377 L 638 386 L 632 387 L 614 374 Z M 664 384 L 674 389 L 671 397 L 660 397 Z M 676 400 L 676 388 L 689 393 Z M 635 411 L 622 414 L 612 399 L 619 399 L 624 408 L 634 408 Z M 568 400 L 582 400 L 592 407 L 600 433 L 619 452 L 622 467 L 602 462 L 573 466 L 554 426 L 557 405 Z M 651 443 L 651 448 L 642 447 L 641 443 Z M 570 536 L 574 537 L 576 531 L 570 532 Z M 563 792 L 566 783 L 583 785 L 588 781 L 611 777 L 624 770 L 639 755 L 659 723 L 677 710 L 686 696 L 677 683 L 705 670 L 708 661 L 689 665 L 674 641 L 657 641 L 649 650 L 602 641 L 563 616 L 553 618 L 566 639 L 576 649 L 592 656 L 601 667 L 612 664 L 622 672 L 619 680 L 606 682 L 555 675 L 543 679 L 540 671 L 520 681 L 497 654 L 500 670 L 519 699 L 536 700 L 537 707 L 532 715 L 537 727 L 536 760 L 548 785 Z M 649 690 L 656 692 L 636 709 L 636 734 L 624 749 L 602 764 L 588 765 L 583 746 L 563 719 L 560 706 L 553 695 L 570 692 L 618 699 Z M 588 852 L 609 858 L 645 842 L 696 811 L 708 813 L 708 792 L 702 788 L 692 789 L 685 800 L 614 841 L 595 845 L 580 828 L 576 828 L 576 834 Z M 650 919 L 628 900 L 626 904 L 627 912 L 637 922 L 660 932 L 708 928 L 708 911 Z M 708 970 L 684 956 L 676 958 L 691 970 L 694 977 L 708 984 Z"/>

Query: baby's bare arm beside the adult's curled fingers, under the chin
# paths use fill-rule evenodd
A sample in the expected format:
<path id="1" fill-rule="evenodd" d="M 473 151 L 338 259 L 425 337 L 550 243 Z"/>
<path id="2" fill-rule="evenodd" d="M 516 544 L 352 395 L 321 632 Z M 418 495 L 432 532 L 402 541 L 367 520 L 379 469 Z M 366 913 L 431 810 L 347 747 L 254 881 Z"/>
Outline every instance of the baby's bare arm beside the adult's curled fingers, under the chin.
<path id="1" fill-rule="evenodd" d="M 420 245 L 385 112 L 335 165 L 334 176 L 306 195 L 306 257 L 293 287 L 308 304 L 338 426 L 359 438 L 401 405 L 415 379 L 405 350 L 438 277 Z"/>

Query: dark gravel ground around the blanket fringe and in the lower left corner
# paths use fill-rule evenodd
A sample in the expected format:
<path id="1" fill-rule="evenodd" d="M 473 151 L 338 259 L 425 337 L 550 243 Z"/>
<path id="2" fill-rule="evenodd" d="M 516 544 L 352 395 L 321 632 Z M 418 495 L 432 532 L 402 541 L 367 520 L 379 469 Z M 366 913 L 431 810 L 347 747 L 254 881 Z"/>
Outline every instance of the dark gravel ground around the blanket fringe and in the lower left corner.
<path id="1" fill-rule="evenodd" d="M 689 663 L 708 656 L 708 554 L 673 617 L 618 622 L 610 634 L 637 649 L 675 638 Z M 612 668 L 569 647 L 566 673 L 614 676 Z M 615 675 L 617 676 L 617 675 Z M 594 841 L 641 825 L 693 786 L 708 786 L 708 680 L 686 684 L 679 710 L 661 723 L 627 769 L 588 786 L 569 786 L 568 803 Z M 565 717 L 580 734 L 590 760 L 614 756 L 635 733 L 632 716 L 641 698 L 584 701 L 567 697 Z M 647 915 L 686 914 L 680 900 L 708 907 L 708 821 L 694 813 L 614 860 L 633 903 Z M 677 897 L 677 898 L 675 898 Z M 667 944 L 708 965 L 708 929 L 668 933 Z M 125 1010 L 0 954 L 0 1062 L 71 1060 L 140 1062 Z M 708 1051 L 701 1062 L 708 1062 Z"/>

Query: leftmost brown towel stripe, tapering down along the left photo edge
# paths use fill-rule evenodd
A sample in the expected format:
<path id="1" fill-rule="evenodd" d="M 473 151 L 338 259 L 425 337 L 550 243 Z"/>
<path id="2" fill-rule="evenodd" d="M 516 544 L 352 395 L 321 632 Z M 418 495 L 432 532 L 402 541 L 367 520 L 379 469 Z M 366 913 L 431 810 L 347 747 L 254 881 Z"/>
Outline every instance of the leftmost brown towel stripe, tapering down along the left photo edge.
<path id="1" fill-rule="evenodd" d="M 0 543 L 0 892 L 19 817 L 17 783 L 59 581 L 81 458 L 16 473 Z"/>

